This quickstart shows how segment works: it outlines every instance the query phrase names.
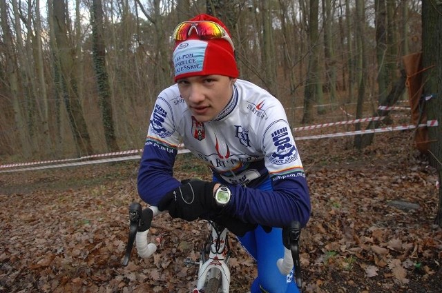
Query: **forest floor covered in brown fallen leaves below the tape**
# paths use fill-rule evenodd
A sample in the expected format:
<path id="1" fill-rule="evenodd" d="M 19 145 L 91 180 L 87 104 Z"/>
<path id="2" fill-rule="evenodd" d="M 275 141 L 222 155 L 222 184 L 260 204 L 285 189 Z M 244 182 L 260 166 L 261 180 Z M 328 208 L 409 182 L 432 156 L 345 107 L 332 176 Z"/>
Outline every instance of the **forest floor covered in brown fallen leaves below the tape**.
<path id="1" fill-rule="evenodd" d="M 299 135 L 298 135 L 299 136 Z M 434 225 L 436 174 L 411 130 L 298 141 L 311 192 L 301 236 L 303 292 L 442 292 L 442 229 Z M 137 161 L 0 174 L 0 292 L 189 292 L 206 224 L 155 218 L 152 259 L 128 238 L 128 205 L 140 201 Z M 175 176 L 209 179 L 190 154 Z M 231 292 L 247 292 L 253 260 L 231 237 Z"/>

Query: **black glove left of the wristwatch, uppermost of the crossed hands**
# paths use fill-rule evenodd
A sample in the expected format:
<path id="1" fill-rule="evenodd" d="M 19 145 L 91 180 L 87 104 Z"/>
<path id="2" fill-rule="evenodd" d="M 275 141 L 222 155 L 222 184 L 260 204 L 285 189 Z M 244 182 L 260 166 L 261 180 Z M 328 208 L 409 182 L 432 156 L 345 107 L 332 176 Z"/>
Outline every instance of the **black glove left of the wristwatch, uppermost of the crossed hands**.
<path id="1" fill-rule="evenodd" d="M 204 214 L 220 210 L 213 197 L 215 182 L 182 182 L 185 183 L 163 196 L 158 204 L 160 211 L 168 210 L 172 218 L 193 221 Z"/>

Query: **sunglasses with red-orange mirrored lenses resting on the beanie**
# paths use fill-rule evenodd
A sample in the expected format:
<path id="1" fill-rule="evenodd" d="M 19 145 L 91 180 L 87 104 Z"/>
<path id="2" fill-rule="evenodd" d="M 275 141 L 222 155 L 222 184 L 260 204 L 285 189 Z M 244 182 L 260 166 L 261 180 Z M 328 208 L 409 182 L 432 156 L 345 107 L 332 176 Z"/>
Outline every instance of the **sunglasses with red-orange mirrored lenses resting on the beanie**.
<path id="1" fill-rule="evenodd" d="M 213 21 L 183 21 L 173 30 L 172 36 L 175 41 L 186 41 L 193 31 L 195 31 L 202 40 L 225 39 L 230 43 L 233 51 L 235 50 L 233 41 L 226 30 Z"/>

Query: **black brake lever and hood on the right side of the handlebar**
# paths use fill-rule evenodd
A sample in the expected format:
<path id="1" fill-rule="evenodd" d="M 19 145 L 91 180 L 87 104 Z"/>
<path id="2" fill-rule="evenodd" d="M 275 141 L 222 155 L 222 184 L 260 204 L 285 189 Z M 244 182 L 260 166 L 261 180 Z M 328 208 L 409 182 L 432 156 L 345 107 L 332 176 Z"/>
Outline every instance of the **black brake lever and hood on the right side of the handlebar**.
<path id="1" fill-rule="evenodd" d="M 302 287 L 301 263 L 299 260 L 299 238 L 301 235 L 301 225 L 298 221 L 292 221 L 289 228 L 282 230 L 284 236 L 282 241 L 284 246 L 291 251 L 291 257 L 295 266 L 295 281 L 298 288 Z"/>

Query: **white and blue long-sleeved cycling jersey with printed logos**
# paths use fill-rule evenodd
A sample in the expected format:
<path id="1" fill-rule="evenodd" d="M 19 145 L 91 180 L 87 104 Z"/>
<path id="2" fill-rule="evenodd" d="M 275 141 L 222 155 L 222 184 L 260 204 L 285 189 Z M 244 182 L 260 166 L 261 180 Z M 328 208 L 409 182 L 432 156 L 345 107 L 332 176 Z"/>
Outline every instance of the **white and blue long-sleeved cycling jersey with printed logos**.
<path id="1" fill-rule="evenodd" d="M 184 143 L 209 165 L 215 181 L 232 192 L 223 212 L 272 227 L 309 220 L 310 201 L 305 173 L 280 101 L 262 88 L 238 79 L 227 106 L 215 119 L 193 117 L 177 84 L 163 90 L 151 114 L 138 174 L 138 192 L 157 205 L 177 188 L 173 164 Z M 258 190 L 270 180 L 272 190 Z"/>

